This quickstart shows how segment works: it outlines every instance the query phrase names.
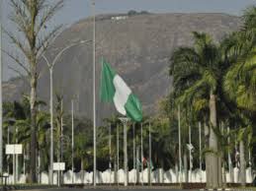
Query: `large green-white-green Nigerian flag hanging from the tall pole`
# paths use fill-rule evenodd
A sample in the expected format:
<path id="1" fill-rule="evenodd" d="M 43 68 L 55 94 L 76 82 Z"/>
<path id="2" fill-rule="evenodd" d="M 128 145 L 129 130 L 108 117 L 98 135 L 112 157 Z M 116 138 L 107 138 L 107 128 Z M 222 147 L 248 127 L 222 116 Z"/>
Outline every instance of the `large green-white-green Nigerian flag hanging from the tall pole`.
<path id="1" fill-rule="evenodd" d="M 114 101 L 121 114 L 134 121 L 141 121 L 142 109 L 137 96 L 131 93 L 125 81 L 105 61 L 102 64 L 101 99 Z"/>

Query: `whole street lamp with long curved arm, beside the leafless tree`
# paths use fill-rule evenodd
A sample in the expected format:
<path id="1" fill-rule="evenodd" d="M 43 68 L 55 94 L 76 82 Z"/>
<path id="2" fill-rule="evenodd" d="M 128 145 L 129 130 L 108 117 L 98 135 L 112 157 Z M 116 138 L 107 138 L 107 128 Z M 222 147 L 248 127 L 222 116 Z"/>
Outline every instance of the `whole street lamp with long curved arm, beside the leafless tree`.
<path id="1" fill-rule="evenodd" d="M 53 61 L 50 63 L 48 59 L 43 55 L 43 59 L 45 60 L 48 69 L 49 69 L 49 78 L 50 78 L 50 98 L 49 98 L 49 110 L 50 110 L 50 167 L 49 167 L 49 184 L 53 184 L 53 67 L 56 64 L 57 59 L 65 52 L 67 49 L 82 44 L 87 43 L 92 40 L 81 40 L 76 43 L 72 43 L 66 47 L 64 47 L 58 54 L 55 56 Z"/>

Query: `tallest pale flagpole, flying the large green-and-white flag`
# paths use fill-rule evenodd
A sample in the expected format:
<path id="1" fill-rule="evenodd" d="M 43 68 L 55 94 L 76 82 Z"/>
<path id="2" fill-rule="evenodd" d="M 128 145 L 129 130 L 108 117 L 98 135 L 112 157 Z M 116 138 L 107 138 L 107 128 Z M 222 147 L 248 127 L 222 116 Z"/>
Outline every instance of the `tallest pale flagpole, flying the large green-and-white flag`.
<path id="1" fill-rule="evenodd" d="M 93 7 L 93 185 L 96 186 L 96 91 L 95 91 L 95 0 L 92 0 Z"/>

